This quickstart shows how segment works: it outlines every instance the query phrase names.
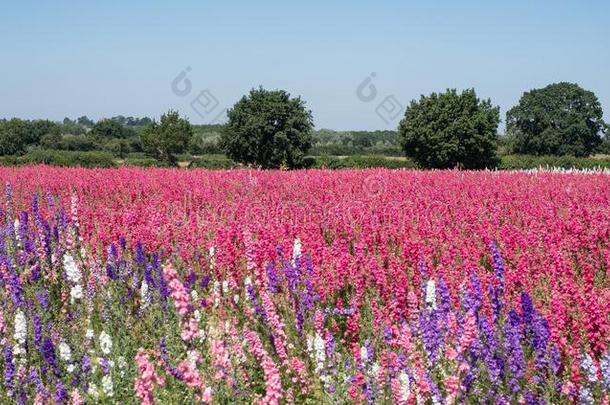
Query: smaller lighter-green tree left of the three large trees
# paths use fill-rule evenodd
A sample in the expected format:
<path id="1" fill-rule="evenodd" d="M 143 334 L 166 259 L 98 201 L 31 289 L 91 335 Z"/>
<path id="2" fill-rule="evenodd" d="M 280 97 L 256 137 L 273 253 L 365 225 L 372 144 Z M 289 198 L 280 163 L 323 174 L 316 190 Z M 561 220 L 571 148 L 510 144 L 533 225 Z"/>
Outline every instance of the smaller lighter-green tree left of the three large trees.
<path id="1" fill-rule="evenodd" d="M 176 165 L 176 154 L 184 153 L 193 137 L 193 126 L 177 111 L 170 110 L 161 116 L 161 121 L 153 121 L 140 134 L 142 148 L 155 159 Z"/>

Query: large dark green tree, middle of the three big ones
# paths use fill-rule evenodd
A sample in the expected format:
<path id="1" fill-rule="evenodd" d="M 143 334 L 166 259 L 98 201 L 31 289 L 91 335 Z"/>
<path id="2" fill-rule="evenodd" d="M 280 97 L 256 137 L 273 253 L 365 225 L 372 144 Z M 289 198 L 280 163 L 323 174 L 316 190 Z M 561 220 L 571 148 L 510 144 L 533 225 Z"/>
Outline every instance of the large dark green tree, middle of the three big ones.
<path id="1" fill-rule="evenodd" d="M 413 100 L 399 132 L 408 157 L 423 168 L 495 167 L 499 107 L 474 89 L 455 89 Z"/>

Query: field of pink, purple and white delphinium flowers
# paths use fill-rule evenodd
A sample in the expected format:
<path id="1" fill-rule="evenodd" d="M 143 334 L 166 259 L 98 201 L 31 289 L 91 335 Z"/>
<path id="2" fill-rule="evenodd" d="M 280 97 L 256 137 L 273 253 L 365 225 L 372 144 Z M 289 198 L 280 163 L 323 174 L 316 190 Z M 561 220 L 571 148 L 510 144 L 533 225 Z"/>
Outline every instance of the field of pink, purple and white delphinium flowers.
<path id="1" fill-rule="evenodd" d="M 610 176 L 0 168 L 1 403 L 608 403 Z"/>

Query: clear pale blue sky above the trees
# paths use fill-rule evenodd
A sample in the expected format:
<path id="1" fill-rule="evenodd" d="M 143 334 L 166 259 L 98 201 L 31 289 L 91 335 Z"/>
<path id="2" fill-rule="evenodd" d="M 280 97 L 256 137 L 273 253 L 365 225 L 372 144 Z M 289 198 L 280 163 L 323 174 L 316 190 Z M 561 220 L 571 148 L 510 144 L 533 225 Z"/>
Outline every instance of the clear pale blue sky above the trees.
<path id="1" fill-rule="evenodd" d="M 609 16 L 601 0 L 4 2 L 0 117 L 174 108 L 205 123 L 262 85 L 301 95 L 318 128 L 386 129 L 398 123 L 376 113 L 387 96 L 404 106 L 474 87 L 504 120 L 523 91 L 571 81 L 608 119 Z M 192 89 L 179 96 L 171 84 L 187 67 Z M 373 72 L 377 95 L 365 102 L 356 91 Z M 218 106 L 200 98 L 200 116 L 191 102 L 206 89 Z"/>

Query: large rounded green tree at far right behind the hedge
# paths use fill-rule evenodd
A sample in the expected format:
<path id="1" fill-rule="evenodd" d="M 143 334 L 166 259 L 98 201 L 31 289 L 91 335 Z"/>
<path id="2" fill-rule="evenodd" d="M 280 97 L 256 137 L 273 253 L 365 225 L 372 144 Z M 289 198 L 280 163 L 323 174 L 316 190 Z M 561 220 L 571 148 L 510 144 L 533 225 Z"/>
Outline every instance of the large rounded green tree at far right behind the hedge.
<path id="1" fill-rule="evenodd" d="M 590 91 L 556 83 L 526 92 L 506 114 L 515 153 L 589 156 L 606 130 L 602 107 Z"/>

